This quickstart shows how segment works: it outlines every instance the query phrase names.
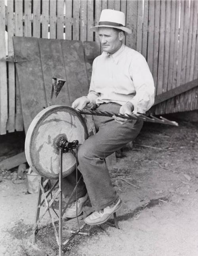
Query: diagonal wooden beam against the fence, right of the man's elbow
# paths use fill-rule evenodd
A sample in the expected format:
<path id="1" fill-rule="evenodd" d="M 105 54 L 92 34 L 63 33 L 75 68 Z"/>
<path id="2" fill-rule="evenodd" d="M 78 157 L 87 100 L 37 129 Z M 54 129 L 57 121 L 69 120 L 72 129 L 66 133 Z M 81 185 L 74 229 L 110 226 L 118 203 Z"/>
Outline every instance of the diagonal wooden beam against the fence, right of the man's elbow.
<path id="1" fill-rule="evenodd" d="M 163 94 L 157 95 L 155 97 L 154 105 L 157 105 L 165 100 L 168 100 L 172 97 L 182 94 L 183 92 L 187 92 L 188 90 L 195 88 L 196 86 L 198 86 L 198 78 L 195 80 L 192 80 L 186 84 L 177 86 L 176 88 L 173 88 L 173 89 L 169 90 L 168 92 L 164 92 Z"/>

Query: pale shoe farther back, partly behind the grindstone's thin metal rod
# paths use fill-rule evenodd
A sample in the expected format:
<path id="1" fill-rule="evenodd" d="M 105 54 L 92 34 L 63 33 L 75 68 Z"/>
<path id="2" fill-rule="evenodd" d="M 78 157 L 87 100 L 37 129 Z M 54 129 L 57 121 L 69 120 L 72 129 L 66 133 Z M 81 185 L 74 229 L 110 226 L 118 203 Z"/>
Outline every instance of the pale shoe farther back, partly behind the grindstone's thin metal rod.
<path id="1" fill-rule="evenodd" d="M 84 204 L 88 201 L 89 197 L 88 197 L 88 193 L 86 193 L 86 195 L 84 197 L 80 197 L 78 198 L 77 202 L 77 216 L 80 216 L 80 214 L 82 213 L 82 208 L 84 206 Z M 67 218 L 75 218 L 76 217 L 76 201 L 71 203 L 67 210 L 65 211 L 65 216 Z"/>

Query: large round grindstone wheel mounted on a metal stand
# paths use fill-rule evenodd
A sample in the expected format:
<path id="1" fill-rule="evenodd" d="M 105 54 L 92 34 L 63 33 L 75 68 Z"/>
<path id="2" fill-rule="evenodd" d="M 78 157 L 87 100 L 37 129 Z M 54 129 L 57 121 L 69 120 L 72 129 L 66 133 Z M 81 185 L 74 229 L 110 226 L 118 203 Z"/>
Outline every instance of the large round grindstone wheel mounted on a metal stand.
<path id="1" fill-rule="evenodd" d="M 43 109 L 32 120 L 25 139 L 25 155 L 29 166 L 47 179 L 59 178 L 59 138 L 79 144 L 88 138 L 86 123 L 72 107 L 53 105 Z M 76 166 L 72 153 L 63 153 L 63 177 Z"/>

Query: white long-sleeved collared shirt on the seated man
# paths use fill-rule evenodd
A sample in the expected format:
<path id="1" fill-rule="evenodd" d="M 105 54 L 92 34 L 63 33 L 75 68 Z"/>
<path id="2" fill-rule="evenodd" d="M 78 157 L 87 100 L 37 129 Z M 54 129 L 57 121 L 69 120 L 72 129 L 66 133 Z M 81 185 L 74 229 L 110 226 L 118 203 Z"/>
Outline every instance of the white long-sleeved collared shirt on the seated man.
<path id="1" fill-rule="evenodd" d="M 122 44 L 114 54 L 96 57 L 87 97 L 93 105 L 130 101 L 133 113 L 145 113 L 154 103 L 154 81 L 143 55 Z"/>

